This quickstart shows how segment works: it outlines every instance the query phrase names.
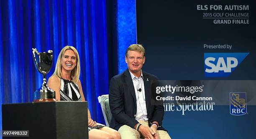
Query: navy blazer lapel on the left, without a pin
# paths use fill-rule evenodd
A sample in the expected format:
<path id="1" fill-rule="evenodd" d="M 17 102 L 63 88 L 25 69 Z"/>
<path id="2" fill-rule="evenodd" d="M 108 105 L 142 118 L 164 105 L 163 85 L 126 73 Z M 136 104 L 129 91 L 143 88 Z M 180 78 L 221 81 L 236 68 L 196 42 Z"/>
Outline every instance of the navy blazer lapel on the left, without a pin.
<path id="1" fill-rule="evenodd" d="M 133 81 L 128 69 L 125 71 L 125 82 L 127 83 L 128 92 L 131 92 L 131 95 L 133 96 L 134 106 L 137 109 L 136 95 L 135 95 L 135 90 L 133 86 Z"/>

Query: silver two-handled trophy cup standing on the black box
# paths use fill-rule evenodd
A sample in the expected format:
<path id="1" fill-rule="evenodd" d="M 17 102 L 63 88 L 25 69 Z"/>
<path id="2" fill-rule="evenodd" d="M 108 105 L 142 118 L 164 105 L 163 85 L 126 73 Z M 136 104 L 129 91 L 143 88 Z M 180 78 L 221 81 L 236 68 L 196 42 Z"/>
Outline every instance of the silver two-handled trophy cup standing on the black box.
<path id="1" fill-rule="evenodd" d="M 46 82 L 46 74 L 50 71 L 52 65 L 52 51 L 48 50 L 48 52 L 38 53 L 36 48 L 32 48 L 33 50 L 33 59 L 36 68 L 40 73 L 43 74 L 43 84 L 42 87 L 39 88 L 34 93 L 34 102 L 37 101 L 56 101 L 55 91 L 47 86 Z M 40 96 L 40 97 L 39 97 Z"/>

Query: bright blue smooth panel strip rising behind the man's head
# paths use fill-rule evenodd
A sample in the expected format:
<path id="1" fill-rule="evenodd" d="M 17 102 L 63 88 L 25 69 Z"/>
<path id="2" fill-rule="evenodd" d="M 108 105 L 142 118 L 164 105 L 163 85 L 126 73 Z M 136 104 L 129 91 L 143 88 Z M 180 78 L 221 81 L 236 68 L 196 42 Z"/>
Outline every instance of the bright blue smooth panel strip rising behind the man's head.
<path id="1" fill-rule="evenodd" d="M 118 73 L 126 70 L 126 48 L 136 43 L 136 5 L 135 0 L 116 0 L 116 34 L 118 48 Z"/>

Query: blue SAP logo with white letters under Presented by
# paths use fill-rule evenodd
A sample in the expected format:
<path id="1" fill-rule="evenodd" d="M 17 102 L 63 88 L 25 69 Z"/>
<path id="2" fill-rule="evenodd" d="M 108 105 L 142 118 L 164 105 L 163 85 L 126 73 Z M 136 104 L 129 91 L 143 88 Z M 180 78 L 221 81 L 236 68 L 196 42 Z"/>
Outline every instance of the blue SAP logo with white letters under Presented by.
<path id="1" fill-rule="evenodd" d="M 228 77 L 249 53 L 205 53 L 205 77 Z"/>

